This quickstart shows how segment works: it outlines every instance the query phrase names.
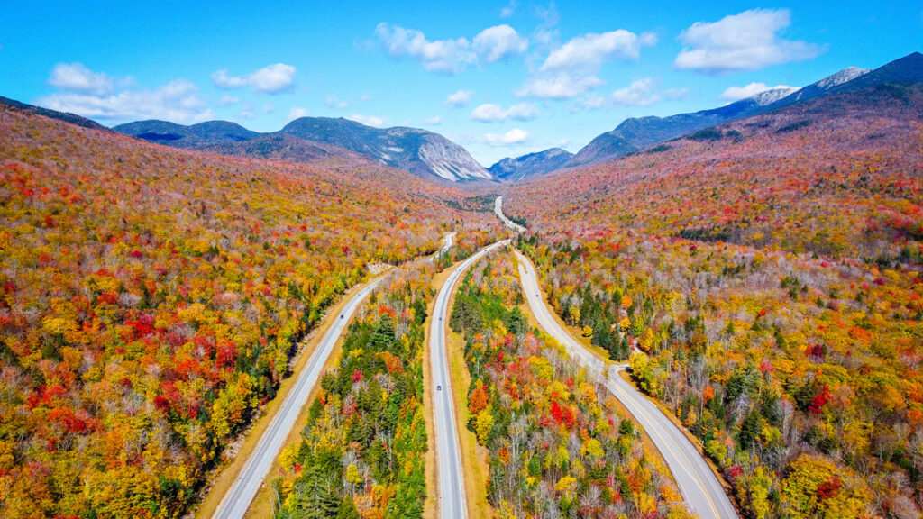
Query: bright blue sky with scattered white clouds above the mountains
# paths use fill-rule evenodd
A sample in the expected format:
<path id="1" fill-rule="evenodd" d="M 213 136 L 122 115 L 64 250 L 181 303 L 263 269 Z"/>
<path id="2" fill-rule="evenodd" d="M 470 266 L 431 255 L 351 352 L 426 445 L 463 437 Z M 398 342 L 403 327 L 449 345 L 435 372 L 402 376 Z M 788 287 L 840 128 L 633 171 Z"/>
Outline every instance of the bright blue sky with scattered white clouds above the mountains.
<path id="1" fill-rule="evenodd" d="M 923 52 L 916 0 L 5 0 L 0 14 L 2 96 L 107 126 L 423 127 L 485 166 Z"/>

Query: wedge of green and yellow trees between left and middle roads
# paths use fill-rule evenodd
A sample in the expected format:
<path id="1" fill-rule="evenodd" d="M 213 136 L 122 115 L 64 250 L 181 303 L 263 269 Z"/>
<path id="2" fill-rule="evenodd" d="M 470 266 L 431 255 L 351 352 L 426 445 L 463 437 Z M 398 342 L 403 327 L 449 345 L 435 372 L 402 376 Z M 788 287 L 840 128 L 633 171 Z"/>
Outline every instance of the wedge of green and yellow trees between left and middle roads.
<path id="1" fill-rule="evenodd" d="M 320 381 L 302 441 L 280 456 L 275 517 L 421 517 L 423 344 L 435 267 L 390 274 Z"/>

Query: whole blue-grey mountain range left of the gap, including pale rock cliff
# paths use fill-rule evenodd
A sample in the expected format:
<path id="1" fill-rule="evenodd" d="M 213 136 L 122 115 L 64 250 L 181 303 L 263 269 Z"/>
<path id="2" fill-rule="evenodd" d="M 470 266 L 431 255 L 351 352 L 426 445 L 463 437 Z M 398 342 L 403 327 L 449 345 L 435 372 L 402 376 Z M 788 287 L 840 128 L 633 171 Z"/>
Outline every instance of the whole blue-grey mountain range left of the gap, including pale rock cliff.
<path id="1" fill-rule="evenodd" d="M 410 127 L 366 127 L 343 118 L 302 117 L 278 132 L 265 134 L 228 121 L 208 121 L 187 127 L 149 120 L 113 129 L 174 148 L 225 155 L 309 163 L 330 156 L 359 154 L 428 180 L 494 179 L 468 151 L 437 133 Z"/>

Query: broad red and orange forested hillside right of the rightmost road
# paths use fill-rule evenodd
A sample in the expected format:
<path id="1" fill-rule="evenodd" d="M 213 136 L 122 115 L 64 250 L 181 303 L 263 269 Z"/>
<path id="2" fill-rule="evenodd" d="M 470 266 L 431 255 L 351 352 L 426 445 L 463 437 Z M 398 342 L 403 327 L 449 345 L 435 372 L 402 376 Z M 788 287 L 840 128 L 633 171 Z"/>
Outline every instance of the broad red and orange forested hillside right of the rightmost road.
<path id="1" fill-rule="evenodd" d="M 748 516 L 919 516 L 921 120 L 884 85 L 504 196 L 549 303 L 641 350 Z"/>

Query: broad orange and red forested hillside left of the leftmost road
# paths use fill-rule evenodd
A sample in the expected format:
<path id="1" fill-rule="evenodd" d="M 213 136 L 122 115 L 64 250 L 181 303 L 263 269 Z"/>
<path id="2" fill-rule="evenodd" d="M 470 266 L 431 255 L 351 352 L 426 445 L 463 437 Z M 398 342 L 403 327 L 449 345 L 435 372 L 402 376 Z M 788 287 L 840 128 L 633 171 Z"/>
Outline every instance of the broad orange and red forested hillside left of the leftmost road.
<path id="1" fill-rule="evenodd" d="M 485 216 L 366 163 L 175 151 L 0 107 L 6 517 L 178 517 L 376 262 Z"/>

